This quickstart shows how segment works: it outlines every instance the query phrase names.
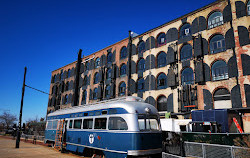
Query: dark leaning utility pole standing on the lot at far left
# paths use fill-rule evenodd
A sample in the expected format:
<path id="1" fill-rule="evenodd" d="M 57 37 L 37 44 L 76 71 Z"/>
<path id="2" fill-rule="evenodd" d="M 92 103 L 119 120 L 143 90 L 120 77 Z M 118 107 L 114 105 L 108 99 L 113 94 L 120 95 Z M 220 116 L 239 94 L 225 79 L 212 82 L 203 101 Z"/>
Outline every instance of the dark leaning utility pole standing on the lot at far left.
<path id="1" fill-rule="evenodd" d="M 19 114 L 19 123 L 18 123 L 18 128 L 17 128 L 16 148 L 19 148 L 19 144 L 20 144 L 20 135 L 21 135 L 20 130 L 21 130 L 22 114 L 23 114 L 23 98 L 24 98 L 24 91 L 25 91 L 26 71 L 27 71 L 27 67 L 24 68 L 22 99 L 21 99 L 21 108 L 20 108 L 20 114 Z"/>

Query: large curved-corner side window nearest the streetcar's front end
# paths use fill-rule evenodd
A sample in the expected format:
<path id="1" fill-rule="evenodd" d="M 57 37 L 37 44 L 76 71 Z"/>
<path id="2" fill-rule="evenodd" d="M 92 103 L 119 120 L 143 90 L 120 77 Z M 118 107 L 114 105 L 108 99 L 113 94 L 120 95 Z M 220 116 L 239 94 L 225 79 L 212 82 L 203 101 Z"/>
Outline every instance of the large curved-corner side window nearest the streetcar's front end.
<path id="1" fill-rule="evenodd" d="M 121 117 L 110 117 L 108 128 L 109 130 L 128 130 L 128 125 Z"/>

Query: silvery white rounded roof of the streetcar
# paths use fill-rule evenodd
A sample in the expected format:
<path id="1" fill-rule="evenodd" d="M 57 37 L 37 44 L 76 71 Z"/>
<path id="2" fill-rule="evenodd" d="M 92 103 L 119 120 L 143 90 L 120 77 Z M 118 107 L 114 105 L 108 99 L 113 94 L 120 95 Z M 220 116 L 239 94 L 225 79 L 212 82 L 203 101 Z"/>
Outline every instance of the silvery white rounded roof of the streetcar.
<path id="1" fill-rule="evenodd" d="M 95 110 L 105 110 L 110 108 L 123 108 L 128 113 L 139 113 L 139 114 L 144 114 L 144 113 L 146 114 L 147 112 L 145 111 L 145 109 L 148 108 L 150 109 L 150 114 L 158 113 L 157 109 L 154 106 L 145 103 L 141 98 L 130 96 L 130 97 L 124 97 L 124 99 L 120 100 L 106 101 L 106 102 L 103 101 L 96 104 L 81 105 L 71 108 L 60 109 L 48 114 L 48 117 L 64 115 L 64 114 L 73 114 L 79 112 L 95 111 Z"/>

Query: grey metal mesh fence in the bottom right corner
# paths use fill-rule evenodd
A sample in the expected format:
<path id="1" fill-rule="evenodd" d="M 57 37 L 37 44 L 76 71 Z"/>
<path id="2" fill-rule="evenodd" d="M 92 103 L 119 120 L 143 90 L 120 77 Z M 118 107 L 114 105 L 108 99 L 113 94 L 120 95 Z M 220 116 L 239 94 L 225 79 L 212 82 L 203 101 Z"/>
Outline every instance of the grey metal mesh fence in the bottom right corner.
<path id="1" fill-rule="evenodd" d="M 203 158 L 249 158 L 250 148 L 229 145 L 184 142 L 185 155 Z"/>

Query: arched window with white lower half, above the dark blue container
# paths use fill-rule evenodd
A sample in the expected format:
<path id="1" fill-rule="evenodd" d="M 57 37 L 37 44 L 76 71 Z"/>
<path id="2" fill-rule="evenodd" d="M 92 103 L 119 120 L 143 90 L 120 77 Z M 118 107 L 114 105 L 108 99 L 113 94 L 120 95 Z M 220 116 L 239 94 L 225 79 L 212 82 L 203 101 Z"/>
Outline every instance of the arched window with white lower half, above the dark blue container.
<path id="1" fill-rule="evenodd" d="M 214 92 L 214 108 L 232 108 L 231 95 L 226 88 L 220 88 Z"/>

